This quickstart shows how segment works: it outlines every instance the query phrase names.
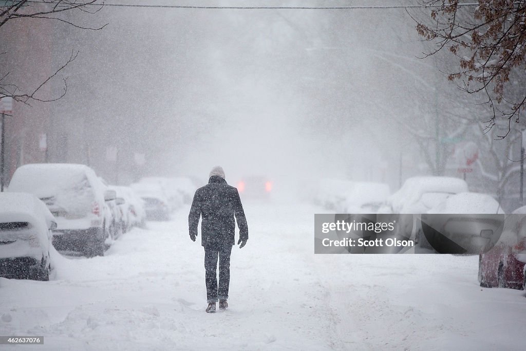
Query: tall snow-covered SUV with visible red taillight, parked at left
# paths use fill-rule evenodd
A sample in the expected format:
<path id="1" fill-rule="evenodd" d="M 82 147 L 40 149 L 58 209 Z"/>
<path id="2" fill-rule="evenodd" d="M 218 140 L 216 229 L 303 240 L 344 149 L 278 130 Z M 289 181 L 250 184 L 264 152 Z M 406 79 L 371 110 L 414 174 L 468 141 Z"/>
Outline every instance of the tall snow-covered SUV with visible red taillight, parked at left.
<path id="1" fill-rule="evenodd" d="M 80 164 L 27 164 L 18 167 L 10 192 L 36 195 L 55 217 L 53 245 L 58 250 L 103 255 L 113 215 L 107 202 L 115 200 L 92 168 Z"/>

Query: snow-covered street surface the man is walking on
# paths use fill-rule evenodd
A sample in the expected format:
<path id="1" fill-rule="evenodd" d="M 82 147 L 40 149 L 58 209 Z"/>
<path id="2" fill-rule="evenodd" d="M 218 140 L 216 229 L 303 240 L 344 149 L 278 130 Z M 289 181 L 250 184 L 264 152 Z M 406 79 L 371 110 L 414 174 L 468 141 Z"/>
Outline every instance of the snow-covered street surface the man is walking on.
<path id="1" fill-rule="evenodd" d="M 188 237 L 184 207 L 104 257 L 55 253 L 49 282 L 0 278 L 0 335 L 44 336 L 5 349 L 524 347 L 524 292 L 480 288 L 477 256 L 315 255 L 320 209 L 245 211 L 250 237 L 232 250 L 225 312 L 204 312 L 204 250 Z"/>

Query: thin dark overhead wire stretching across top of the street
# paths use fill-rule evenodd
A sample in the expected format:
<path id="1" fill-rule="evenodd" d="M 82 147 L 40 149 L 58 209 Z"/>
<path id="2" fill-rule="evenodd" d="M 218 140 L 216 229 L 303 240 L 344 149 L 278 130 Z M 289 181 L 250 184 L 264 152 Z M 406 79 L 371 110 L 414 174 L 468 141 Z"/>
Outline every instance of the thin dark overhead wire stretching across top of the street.
<path id="1" fill-rule="evenodd" d="M 29 1 L 31 3 L 46 3 L 44 1 Z M 346 10 L 346 9 L 389 9 L 389 8 L 427 8 L 442 5 L 355 5 L 355 6 L 207 6 L 207 5 L 150 5 L 150 4 L 111 4 L 94 3 L 89 6 L 110 7 L 148 7 L 148 8 L 189 8 L 189 9 L 297 9 L 297 10 Z M 460 6 L 478 6 L 478 3 L 459 4 Z"/>

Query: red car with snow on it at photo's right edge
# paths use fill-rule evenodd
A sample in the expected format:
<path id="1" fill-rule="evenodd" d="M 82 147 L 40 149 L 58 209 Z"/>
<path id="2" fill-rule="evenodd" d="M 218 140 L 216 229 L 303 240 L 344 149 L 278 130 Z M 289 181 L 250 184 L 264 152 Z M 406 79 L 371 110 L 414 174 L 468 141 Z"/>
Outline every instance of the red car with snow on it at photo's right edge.
<path id="1" fill-rule="evenodd" d="M 479 255 L 482 287 L 526 290 L 526 206 L 514 210 L 504 221 L 497 244 Z"/>

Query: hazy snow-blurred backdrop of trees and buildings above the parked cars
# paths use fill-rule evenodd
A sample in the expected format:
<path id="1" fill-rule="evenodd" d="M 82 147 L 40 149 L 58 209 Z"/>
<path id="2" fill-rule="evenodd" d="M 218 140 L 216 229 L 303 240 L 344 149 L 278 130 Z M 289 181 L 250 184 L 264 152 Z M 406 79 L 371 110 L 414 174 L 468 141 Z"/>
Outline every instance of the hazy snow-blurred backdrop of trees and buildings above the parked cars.
<path id="1" fill-rule="evenodd" d="M 112 4 L 149 4 L 145 0 Z M 164 0 L 155 5 L 175 4 Z M 177 3 L 180 5 L 179 3 Z M 199 2 L 199 5 L 254 2 Z M 317 1 L 259 5 L 320 6 Z M 206 182 L 221 165 L 233 185 L 272 179 L 283 196 L 323 178 L 373 181 L 391 192 L 415 175 L 467 180 L 519 206 L 521 124 L 484 131 L 478 96 L 442 72 L 458 62 L 430 47 L 410 1 L 331 1 L 355 9 L 104 6 L 67 13 L 80 29 L 32 19 L 2 27 L 0 65 L 34 86 L 76 59 L 6 124 L 7 179 L 27 163 L 82 163 L 113 184 L 147 176 Z M 326 5 L 326 3 L 322 4 Z M 446 55 L 444 55 L 446 54 Z M 524 81 L 514 82 L 520 89 Z M 24 86 L 21 86 L 23 88 Z M 487 133 L 484 133 L 487 132 Z"/>

